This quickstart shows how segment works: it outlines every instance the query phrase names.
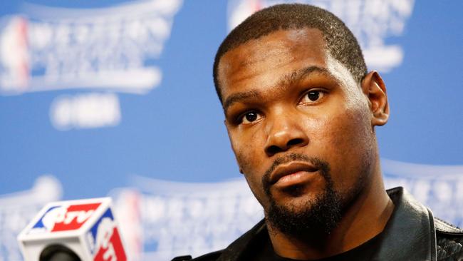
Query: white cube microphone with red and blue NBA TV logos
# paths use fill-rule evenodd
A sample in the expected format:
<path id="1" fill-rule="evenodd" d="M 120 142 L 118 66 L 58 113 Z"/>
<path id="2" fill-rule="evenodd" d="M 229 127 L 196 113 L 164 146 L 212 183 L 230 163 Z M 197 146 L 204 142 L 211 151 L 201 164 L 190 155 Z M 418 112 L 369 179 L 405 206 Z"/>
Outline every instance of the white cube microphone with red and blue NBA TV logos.
<path id="1" fill-rule="evenodd" d="M 126 261 L 110 198 L 48 203 L 18 235 L 26 261 Z"/>

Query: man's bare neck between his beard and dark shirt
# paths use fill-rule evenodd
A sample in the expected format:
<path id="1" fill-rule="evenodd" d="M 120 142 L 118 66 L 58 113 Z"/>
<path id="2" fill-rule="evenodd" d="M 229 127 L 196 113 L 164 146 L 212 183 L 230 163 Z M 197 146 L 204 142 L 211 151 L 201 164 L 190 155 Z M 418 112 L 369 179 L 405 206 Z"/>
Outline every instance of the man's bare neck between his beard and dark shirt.
<path id="1" fill-rule="evenodd" d="M 300 239 L 285 235 L 267 222 L 275 252 L 296 260 L 316 260 L 351 250 L 383 231 L 394 204 L 383 182 L 373 182 L 343 213 L 343 218 L 329 235 Z"/>

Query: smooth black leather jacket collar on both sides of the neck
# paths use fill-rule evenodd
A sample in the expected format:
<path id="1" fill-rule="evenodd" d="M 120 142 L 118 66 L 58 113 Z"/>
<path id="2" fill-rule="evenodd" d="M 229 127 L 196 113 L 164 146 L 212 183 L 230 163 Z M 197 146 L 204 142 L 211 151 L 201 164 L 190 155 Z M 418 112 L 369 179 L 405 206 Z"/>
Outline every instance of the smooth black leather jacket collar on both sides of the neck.
<path id="1" fill-rule="evenodd" d="M 395 205 L 383 230 L 382 242 L 375 252 L 377 261 L 436 261 L 436 233 L 430 210 L 403 188 L 392 188 L 387 194 Z M 268 233 L 264 220 L 229 245 L 217 261 L 238 261 L 253 240 Z M 266 234 L 265 234 L 266 235 Z"/>

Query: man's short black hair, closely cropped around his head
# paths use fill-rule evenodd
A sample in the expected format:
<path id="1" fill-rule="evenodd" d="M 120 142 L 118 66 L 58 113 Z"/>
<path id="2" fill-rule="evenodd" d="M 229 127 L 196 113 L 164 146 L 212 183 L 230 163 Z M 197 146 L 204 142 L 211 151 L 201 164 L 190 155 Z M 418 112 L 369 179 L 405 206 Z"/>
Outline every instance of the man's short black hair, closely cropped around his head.
<path id="1" fill-rule="evenodd" d="M 308 4 L 278 4 L 257 11 L 239 26 L 236 26 L 224 39 L 214 59 L 214 85 L 222 101 L 218 79 L 218 66 L 227 51 L 253 39 L 278 30 L 311 28 L 322 32 L 326 50 L 343 64 L 355 81 L 362 81 L 367 74 L 367 66 L 357 39 L 347 26 L 331 12 Z"/>

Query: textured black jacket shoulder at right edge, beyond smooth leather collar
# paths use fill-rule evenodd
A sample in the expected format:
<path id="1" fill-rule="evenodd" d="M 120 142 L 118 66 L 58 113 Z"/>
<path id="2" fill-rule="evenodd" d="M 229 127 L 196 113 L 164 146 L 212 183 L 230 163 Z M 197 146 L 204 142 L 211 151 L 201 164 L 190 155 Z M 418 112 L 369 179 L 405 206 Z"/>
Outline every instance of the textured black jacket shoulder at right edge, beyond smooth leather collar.
<path id="1" fill-rule="evenodd" d="M 435 218 L 437 260 L 463 260 L 463 230 Z"/>

